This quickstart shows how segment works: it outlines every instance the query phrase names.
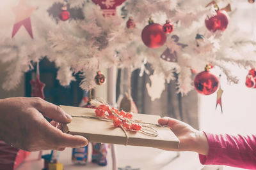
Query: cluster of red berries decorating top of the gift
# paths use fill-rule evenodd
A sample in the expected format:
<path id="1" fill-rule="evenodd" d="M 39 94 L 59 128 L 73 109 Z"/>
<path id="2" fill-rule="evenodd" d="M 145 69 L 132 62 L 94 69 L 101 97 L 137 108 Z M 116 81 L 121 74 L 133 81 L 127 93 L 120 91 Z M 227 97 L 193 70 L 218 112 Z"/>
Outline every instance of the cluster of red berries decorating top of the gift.
<path id="1" fill-rule="evenodd" d="M 127 113 L 125 111 L 118 111 L 115 108 L 109 108 L 108 105 L 100 105 L 95 110 L 97 117 L 104 117 L 108 119 L 113 119 L 113 124 L 115 127 L 123 127 L 127 130 L 140 131 L 141 125 L 131 123 L 129 119 L 132 118 L 132 113 Z"/>

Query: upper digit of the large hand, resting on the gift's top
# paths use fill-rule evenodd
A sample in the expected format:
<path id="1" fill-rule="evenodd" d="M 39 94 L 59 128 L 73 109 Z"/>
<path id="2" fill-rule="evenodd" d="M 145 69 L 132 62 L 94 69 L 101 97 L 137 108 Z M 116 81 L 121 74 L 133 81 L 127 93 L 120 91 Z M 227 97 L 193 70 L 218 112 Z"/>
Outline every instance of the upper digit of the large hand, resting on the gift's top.
<path id="1" fill-rule="evenodd" d="M 33 97 L 32 99 L 34 100 L 35 108 L 45 117 L 60 123 L 70 123 L 72 121 L 72 117 L 65 113 L 60 106 L 44 101 L 39 97 Z"/>

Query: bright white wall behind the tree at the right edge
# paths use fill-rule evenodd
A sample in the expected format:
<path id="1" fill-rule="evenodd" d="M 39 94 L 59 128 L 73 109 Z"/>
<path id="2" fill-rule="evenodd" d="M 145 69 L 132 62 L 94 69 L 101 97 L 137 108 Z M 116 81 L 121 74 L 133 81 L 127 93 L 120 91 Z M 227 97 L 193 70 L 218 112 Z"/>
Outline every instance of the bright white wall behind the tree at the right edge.
<path id="1" fill-rule="evenodd" d="M 250 33 L 251 38 L 255 40 L 256 3 L 233 1 L 232 4 L 239 6 L 235 17 L 237 27 L 241 31 Z M 232 69 L 241 81 L 237 85 L 227 85 L 226 82 L 221 82 L 224 90 L 222 97 L 223 114 L 221 114 L 219 106 L 215 110 L 216 94 L 211 96 L 200 95 L 200 129 L 214 133 L 256 134 L 256 89 L 249 89 L 244 85 L 248 71 L 239 67 L 233 67 Z M 225 166 L 223 169 L 237 168 Z"/>

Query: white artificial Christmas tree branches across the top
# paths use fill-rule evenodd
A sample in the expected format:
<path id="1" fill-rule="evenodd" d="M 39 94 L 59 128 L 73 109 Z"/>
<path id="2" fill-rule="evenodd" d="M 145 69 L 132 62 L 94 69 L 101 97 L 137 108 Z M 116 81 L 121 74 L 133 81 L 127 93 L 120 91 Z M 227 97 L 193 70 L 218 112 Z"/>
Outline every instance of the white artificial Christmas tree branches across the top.
<path id="1" fill-rule="evenodd" d="M 147 72 L 145 64 L 149 63 L 155 75 L 159 74 L 167 82 L 177 79 L 177 92 L 187 94 L 193 89 L 191 70 L 199 73 L 206 64 L 212 64 L 218 73 L 227 76 L 229 82 L 237 83 L 236 75 L 231 73 L 227 64 L 247 69 L 255 66 L 255 42 L 236 27 L 236 18 L 232 17 L 239 8 L 236 1 L 216 1 L 220 10 L 230 4 L 232 11 L 228 12 L 227 29 L 214 32 L 205 27 L 206 18 L 218 15 L 216 5 L 209 4 L 210 1 L 127 0 L 120 3 L 121 0 L 98 0 L 97 4 L 96 0 L 68 1 L 70 7 L 82 9 L 83 19 L 71 18 L 58 24 L 47 13 L 47 9 L 56 2 L 63 3 L 29 1 L 38 6 L 31 16 L 36 27 L 33 27 L 35 39 L 18 35 L 15 39 L 10 38 L 6 32 L 10 32 L 12 24 L 10 19 L 4 21 L 6 28 L 1 31 L 4 38 L 0 40 L 0 57 L 3 62 L 12 60 L 10 77 L 20 77 L 22 72 L 29 70 L 31 60 L 36 61 L 47 55 L 59 67 L 57 79 L 61 85 L 69 85 L 75 80 L 73 75 L 80 73 L 84 77 L 81 87 L 89 90 L 96 85 L 94 77 L 99 67 L 139 68 L 143 73 Z M 116 4 L 115 13 L 113 6 Z M 100 6 L 103 6 L 102 9 Z M 134 29 L 126 26 L 129 17 L 136 24 Z M 148 48 L 141 40 L 141 32 L 148 25 L 149 18 L 157 24 L 164 25 L 166 20 L 173 24 L 173 32 L 166 34 L 166 42 L 159 48 Z M 18 38 L 20 41 L 17 41 Z M 164 58 L 166 50 L 177 59 Z M 10 78 L 4 89 L 10 90 L 17 83 L 17 78 Z"/>

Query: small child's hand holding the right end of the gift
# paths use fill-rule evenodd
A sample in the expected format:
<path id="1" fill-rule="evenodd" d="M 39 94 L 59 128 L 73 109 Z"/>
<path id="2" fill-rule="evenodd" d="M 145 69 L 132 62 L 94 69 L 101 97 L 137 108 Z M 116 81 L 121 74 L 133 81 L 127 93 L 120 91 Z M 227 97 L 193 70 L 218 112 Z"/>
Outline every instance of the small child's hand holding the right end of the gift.
<path id="1" fill-rule="evenodd" d="M 158 123 L 168 125 L 177 138 L 179 138 L 179 149 L 172 151 L 193 151 L 202 155 L 208 154 L 209 143 L 204 132 L 197 131 L 190 125 L 169 117 L 160 118 Z"/>

